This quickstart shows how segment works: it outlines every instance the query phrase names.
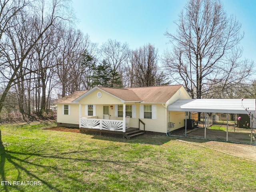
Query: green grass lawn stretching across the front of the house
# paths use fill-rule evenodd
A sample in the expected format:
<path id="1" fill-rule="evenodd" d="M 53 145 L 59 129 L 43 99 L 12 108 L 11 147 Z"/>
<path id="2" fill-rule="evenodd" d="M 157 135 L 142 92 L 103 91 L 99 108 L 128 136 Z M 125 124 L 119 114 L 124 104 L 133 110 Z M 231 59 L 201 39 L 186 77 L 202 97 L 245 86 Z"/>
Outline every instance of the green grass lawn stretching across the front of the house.
<path id="1" fill-rule="evenodd" d="M 256 191 L 252 161 L 174 137 L 126 140 L 42 129 L 47 126 L 55 124 L 0 126 L 1 181 L 40 182 L 0 185 L 0 191 Z"/>

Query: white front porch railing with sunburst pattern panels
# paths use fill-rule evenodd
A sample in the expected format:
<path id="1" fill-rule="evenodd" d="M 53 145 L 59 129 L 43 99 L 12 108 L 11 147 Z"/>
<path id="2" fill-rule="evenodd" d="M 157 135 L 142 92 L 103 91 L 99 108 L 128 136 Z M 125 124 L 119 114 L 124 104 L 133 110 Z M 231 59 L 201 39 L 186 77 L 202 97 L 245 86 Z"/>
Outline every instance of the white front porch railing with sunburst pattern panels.
<path id="1" fill-rule="evenodd" d="M 125 127 L 123 127 L 124 124 L 122 120 L 80 118 L 80 121 L 82 128 L 125 132 Z"/>

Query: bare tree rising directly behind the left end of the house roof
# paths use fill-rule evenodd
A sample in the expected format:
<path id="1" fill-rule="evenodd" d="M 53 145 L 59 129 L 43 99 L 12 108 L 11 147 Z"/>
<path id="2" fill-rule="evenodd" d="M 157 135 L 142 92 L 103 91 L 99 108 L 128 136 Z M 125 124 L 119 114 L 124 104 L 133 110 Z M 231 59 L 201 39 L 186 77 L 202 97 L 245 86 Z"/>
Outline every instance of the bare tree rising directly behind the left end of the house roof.
<path id="1" fill-rule="evenodd" d="M 81 89 L 82 75 L 86 69 L 82 65 L 82 56 L 89 44 L 89 36 L 85 36 L 80 30 L 62 26 L 58 31 L 60 45 L 56 53 L 58 75 L 62 97 Z"/>

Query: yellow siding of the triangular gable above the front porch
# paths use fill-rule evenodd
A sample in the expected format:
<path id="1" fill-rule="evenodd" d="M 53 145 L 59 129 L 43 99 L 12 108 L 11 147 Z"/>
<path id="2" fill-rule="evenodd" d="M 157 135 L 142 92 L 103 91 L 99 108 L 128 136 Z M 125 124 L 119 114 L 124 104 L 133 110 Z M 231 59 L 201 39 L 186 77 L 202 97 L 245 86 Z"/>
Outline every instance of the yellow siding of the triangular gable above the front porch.
<path id="1" fill-rule="evenodd" d="M 97 97 L 97 93 L 100 90 L 95 90 L 94 92 L 92 92 L 91 94 L 89 94 L 88 96 L 82 98 L 80 100 L 80 104 L 122 104 L 121 100 L 106 93 L 103 91 L 100 91 L 102 93 L 101 98 Z"/>

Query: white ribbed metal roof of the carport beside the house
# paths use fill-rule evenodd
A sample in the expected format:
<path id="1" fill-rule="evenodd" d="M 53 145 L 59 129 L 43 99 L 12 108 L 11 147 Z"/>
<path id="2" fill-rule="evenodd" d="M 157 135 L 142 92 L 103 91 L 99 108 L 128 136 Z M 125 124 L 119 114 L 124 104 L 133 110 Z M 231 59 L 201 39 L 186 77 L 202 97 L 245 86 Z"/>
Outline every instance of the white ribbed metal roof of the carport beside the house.
<path id="1" fill-rule="evenodd" d="M 168 111 L 255 114 L 255 99 L 179 99 L 167 107 Z"/>

